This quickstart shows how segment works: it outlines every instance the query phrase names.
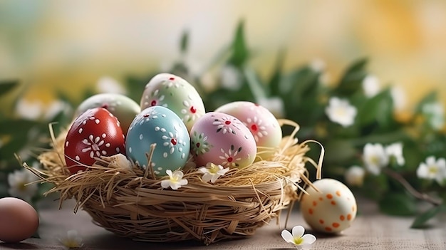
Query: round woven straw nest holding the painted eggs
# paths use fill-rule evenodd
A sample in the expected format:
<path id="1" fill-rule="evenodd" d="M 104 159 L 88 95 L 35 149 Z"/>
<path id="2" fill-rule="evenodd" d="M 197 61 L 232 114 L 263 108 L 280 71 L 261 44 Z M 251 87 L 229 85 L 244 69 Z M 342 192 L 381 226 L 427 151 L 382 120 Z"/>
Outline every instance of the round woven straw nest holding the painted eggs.
<path id="1" fill-rule="evenodd" d="M 295 137 L 299 125 L 289 120 L 279 123 L 294 126 L 294 132 L 282 139 L 271 159 L 229 170 L 214 183 L 203 182 L 203 174 L 189 162 L 192 164 L 182 170 L 189 183 L 177 190 L 162 189 L 160 182 L 168 177 L 154 178 L 148 169 L 129 167 L 120 157 L 98 158 L 88 171 L 71 175 L 63 157 L 66 132 L 55 137 L 51 129 L 53 148 L 38 157 L 43 170 L 26 163 L 24 167 L 43 182 L 54 184 L 48 193 L 59 192 L 60 205 L 76 199 L 74 212 L 82 208 L 95 224 L 118 236 L 152 242 L 194 239 L 210 244 L 252 235 L 259 226 L 279 217 L 282 209 L 291 210 L 306 185 L 311 185 L 306 162 L 317 168 L 320 178 L 323 149 L 316 163 L 306 157 L 307 144 L 314 141 L 299 143 Z"/>

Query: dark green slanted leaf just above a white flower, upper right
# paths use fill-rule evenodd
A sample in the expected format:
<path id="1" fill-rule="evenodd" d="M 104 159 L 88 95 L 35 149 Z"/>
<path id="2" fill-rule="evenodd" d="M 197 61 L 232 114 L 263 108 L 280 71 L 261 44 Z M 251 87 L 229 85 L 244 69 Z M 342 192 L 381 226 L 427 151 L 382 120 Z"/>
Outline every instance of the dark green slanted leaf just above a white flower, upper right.
<path id="1" fill-rule="evenodd" d="M 362 82 L 367 75 L 365 66 L 367 65 L 367 58 L 361 58 L 351 64 L 346 72 L 343 74 L 341 81 L 336 89 L 338 95 L 353 95 L 362 88 Z"/>

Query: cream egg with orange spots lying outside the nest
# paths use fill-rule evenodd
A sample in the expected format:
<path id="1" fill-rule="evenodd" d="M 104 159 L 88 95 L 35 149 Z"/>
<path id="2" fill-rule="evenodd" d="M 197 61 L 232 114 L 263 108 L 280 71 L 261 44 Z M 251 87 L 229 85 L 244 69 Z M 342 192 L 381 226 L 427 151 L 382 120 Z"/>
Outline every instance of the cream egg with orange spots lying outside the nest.
<path id="1" fill-rule="evenodd" d="M 348 187 L 336 179 L 313 182 L 319 192 L 308 187 L 301 198 L 301 213 L 315 231 L 339 233 L 351 226 L 356 217 L 356 199 Z"/>

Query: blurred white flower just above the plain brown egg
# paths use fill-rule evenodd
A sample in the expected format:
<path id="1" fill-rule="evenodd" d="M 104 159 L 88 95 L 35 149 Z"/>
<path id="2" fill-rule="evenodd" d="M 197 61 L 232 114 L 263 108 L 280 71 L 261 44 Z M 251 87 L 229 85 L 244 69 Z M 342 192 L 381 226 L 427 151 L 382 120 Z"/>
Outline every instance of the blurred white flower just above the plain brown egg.
<path id="1" fill-rule="evenodd" d="M 31 202 L 32 197 L 36 195 L 38 190 L 38 183 L 31 182 L 36 180 L 38 180 L 38 177 L 26 169 L 15 170 L 8 175 L 8 192 L 11 196 Z"/>

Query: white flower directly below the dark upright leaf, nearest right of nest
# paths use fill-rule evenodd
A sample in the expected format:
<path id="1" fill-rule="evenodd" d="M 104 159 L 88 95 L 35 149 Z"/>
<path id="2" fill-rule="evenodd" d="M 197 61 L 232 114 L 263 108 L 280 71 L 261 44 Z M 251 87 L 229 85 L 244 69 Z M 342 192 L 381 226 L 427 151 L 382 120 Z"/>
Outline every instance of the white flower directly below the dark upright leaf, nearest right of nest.
<path id="1" fill-rule="evenodd" d="M 348 100 L 333 97 L 328 100 L 325 112 L 333 123 L 348 127 L 354 123 L 357 111 L 348 103 Z"/>

